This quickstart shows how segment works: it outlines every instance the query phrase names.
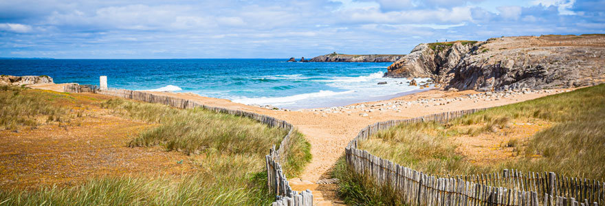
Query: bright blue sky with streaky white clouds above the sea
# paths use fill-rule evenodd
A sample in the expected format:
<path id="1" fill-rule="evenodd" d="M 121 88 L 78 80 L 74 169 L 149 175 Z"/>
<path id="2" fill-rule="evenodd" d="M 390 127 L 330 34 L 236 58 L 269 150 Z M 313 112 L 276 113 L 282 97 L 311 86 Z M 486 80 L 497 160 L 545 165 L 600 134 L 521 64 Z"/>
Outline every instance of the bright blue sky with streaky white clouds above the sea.
<path id="1" fill-rule="evenodd" d="M 605 33 L 605 0 L 0 0 L 0 57 L 311 58 Z"/>

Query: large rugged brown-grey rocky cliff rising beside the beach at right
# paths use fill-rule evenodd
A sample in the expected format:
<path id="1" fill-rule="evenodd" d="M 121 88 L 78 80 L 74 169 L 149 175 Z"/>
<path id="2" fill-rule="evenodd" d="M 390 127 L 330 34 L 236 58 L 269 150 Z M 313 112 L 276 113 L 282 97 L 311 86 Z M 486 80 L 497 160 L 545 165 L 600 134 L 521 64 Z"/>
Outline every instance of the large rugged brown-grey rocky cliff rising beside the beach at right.
<path id="1" fill-rule="evenodd" d="M 553 89 L 605 82 L 605 35 L 514 36 L 421 44 L 385 77 L 426 78 L 478 91 Z"/>

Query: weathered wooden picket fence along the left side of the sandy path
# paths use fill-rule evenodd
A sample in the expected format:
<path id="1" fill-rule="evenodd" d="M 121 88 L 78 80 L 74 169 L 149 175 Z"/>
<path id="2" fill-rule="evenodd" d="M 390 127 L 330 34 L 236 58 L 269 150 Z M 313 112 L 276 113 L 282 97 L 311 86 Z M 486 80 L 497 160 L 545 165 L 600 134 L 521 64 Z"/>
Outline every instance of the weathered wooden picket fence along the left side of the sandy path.
<path id="1" fill-rule="evenodd" d="M 281 168 L 280 163 L 283 163 L 287 158 L 287 155 L 292 141 L 290 138 L 292 133 L 294 133 L 294 126 L 285 122 L 281 119 L 276 119 L 274 117 L 270 117 L 267 115 L 261 115 L 257 113 L 251 113 L 248 111 L 239 111 L 232 110 L 229 108 L 221 108 L 217 106 L 208 106 L 204 104 L 197 104 L 197 102 L 193 102 L 190 100 L 182 99 L 182 98 L 174 98 L 167 95 L 156 95 L 153 93 L 147 93 L 145 91 L 131 91 L 127 89 L 84 89 L 89 88 L 85 85 L 66 85 L 63 87 L 63 90 L 66 92 L 72 93 L 81 93 L 81 92 L 91 92 L 98 93 L 101 95 L 111 95 L 124 99 L 138 100 L 142 102 L 150 102 L 150 103 L 158 103 L 158 104 L 166 104 L 168 106 L 173 106 L 176 108 L 205 108 L 209 111 L 214 111 L 217 113 L 227 113 L 230 115 L 238 115 L 242 117 L 249 117 L 251 119 L 255 119 L 263 124 L 267 124 L 271 127 L 278 127 L 288 130 L 287 135 L 282 139 L 278 150 L 275 150 L 275 145 L 273 148 L 270 148 L 270 154 L 265 157 L 265 163 L 267 164 L 267 185 L 269 185 L 270 191 L 277 195 L 276 202 L 273 205 L 284 205 L 284 206 L 307 206 L 313 204 L 313 194 L 311 191 L 303 191 L 300 194 L 297 194 L 295 191 L 292 191 L 292 188 L 289 186 L 285 175 L 283 174 L 283 170 Z"/>

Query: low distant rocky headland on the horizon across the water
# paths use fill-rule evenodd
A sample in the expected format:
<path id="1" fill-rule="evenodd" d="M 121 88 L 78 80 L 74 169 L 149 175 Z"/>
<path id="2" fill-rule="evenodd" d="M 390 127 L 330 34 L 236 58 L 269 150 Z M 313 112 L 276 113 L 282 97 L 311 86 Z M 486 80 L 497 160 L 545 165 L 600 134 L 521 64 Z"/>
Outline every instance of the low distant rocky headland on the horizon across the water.
<path id="1" fill-rule="evenodd" d="M 367 55 L 352 55 L 352 54 L 326 54 L 311 58 L 311 62 L 396 62 L 405 55 L 395 54 L 367 54 Z"/>

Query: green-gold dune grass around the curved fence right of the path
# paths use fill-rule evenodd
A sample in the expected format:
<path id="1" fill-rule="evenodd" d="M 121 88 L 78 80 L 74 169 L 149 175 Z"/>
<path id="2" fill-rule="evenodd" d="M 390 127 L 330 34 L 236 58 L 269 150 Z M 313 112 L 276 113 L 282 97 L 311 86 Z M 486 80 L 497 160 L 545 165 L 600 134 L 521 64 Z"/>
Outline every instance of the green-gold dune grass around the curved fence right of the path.
<path id="1" fill-rule="evenodd" d="M 478 165 L 456 152 L 451 138 L 494 133 L 513 122 L 552 122 L 526 141 L 511 139 L 519 156 Z M 536 100 L 489 108 L 448 124 L 424 122 L 399 125 L 360 142 L 360 149 L 429 174 L 479 174 L 521 171 L 556 172 L 565 176 L 605 179 L 605 84 L 550 95 Z M 388 187 L 352 174 L 342 161 L 333 172 L 341 179 L 340 195 L 350 205 L 392 205 Z M 368 202 L 368 204 L 364 204 Z"/>

